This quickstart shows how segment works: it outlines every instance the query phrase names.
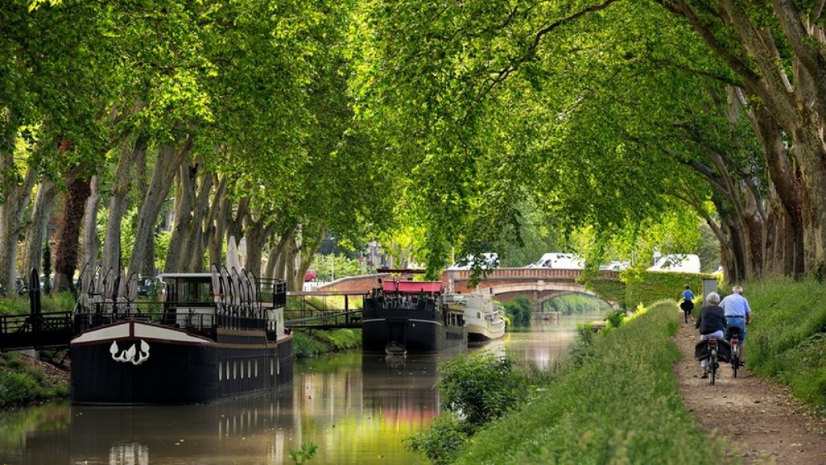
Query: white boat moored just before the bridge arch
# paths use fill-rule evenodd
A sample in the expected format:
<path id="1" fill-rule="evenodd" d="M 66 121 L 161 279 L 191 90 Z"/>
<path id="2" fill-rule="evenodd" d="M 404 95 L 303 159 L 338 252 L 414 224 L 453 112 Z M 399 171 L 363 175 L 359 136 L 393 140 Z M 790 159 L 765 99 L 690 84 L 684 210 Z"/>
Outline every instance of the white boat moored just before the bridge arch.
<path id="1" fill-rule="evenodd" d="M 449 294 L 444 298 L 451 309 L 464 312 L 468 326 L 468 341 L 485 342 L 505 335 L 505 319 L 493 295 L 477 291 L 472 294 Z"/>

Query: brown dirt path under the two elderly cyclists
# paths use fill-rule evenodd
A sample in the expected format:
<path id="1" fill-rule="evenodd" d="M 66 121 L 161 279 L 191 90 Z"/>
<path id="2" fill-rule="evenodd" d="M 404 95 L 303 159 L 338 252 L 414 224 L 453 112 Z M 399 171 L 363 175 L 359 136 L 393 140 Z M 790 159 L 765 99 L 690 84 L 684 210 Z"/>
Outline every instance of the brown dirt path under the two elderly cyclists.
<path id="1" fill-rule="evenodd" d="M 682 322 L 682 314 L 680 315 Z M 743 463 L 826 464 L 826 419 L 795 400 L 788 388 L 741 368 L 721 364 L 714 386 L 701 379 L 694 359 L 700 336 L 693 321 L 682 324 L 676 343 L 683 359 L 674 365 L 686 406 L 706 432 L 729 440 L 729 455 Z M 748 342 L 745 345 L 748 361 Z"/>

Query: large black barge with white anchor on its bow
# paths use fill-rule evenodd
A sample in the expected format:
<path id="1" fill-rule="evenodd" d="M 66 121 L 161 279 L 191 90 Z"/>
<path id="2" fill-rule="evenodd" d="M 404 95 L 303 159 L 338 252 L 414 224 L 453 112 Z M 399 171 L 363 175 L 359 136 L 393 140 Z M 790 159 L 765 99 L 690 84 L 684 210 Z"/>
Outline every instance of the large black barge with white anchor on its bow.
<path id="1" fill-rule="evenodd" d="M 283 281 L 268 283 L 263 304 L 266 286 L 235 268 L 163 280 L 159 313 L 109 300 L 75 315 L 73 403 L 201 404 L 292 381 Z"/>

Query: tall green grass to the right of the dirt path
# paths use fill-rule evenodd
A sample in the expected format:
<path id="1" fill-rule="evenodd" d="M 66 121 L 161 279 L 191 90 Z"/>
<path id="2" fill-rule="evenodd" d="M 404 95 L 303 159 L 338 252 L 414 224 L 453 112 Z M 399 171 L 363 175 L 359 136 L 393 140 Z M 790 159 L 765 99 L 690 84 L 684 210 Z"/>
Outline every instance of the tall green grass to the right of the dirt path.
<path id="1" fill-rule="evenodd" d="M 743 345 L 748 367 L 826 415 L 826 285 L 776 278 L 743 287 L 752 308 Z"/>

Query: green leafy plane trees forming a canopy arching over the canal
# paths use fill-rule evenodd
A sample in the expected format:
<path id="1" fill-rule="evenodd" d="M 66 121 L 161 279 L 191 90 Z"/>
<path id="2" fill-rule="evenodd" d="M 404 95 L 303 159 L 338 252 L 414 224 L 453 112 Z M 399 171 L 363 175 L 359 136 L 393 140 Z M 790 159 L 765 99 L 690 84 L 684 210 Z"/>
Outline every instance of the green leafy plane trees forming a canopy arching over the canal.
<path id="1" fill-rule="evenodd" d="M 0 278 L 12 285 L 23 234 L 35 246 L 23 261 L 39 261 L 55 208 L 64 275 L 78 247 L 154 271 L 169 213 L 167 271 L 219 262 L 246 237 L 260 273 L 294 285 L 330 234 L 412 249 L 434 276 L 537 237 L 594 261 L 694 252 L 700 222 L 730 279 L 803 276 L 826 266 L 821 13 L 732 0 L 4 2 Z M 83 205 L 83 225 L 69 221 Z"/>

